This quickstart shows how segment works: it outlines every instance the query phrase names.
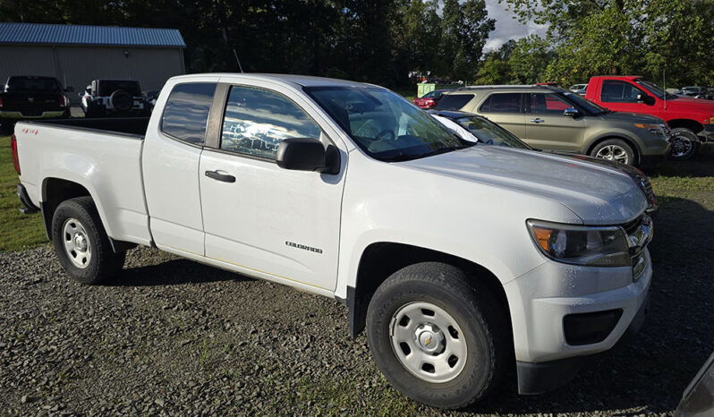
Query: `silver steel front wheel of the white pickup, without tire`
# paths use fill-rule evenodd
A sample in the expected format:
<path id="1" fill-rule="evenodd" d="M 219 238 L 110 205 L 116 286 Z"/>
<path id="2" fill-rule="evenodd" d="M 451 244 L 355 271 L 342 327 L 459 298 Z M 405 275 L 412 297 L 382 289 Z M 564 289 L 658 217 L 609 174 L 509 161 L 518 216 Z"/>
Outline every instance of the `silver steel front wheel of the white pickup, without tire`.
<path id="1" fill-rule="evenodd" d="M 466 364 L 461 327 L 449 313 L 429 302 L 411 302 L 397 310 L 390 336 L 399 362 L 427 382 L 455 379 Z"/>

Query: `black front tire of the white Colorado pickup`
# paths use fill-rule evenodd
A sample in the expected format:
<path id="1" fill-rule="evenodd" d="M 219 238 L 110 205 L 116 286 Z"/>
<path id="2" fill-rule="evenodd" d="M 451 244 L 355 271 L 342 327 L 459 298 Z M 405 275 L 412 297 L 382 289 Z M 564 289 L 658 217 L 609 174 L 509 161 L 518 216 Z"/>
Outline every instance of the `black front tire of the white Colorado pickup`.
<path id="1" fill-rule="evenodd" d="M 512 352 L 507 313 L 489 291 L 474 286 L 473 279 L 451 265 L 423 262 L 395 272 L 379 285 L 372 297 L 367 311 L 370 350 L 387 380 L 405 396 L 438 408 L 460 409 L 487 396 L 504 378 Z M 415 302 L 433 304 L 446 311 L 462 330 L 456 336 L 463 337 L 467 353 L 463 368 L 451 380 L 424 380 L 397 357 L 392 326 L 402 324 L 397 320 L 393 323 L 392 319 L 395 313 Z M 451 343 L 449 340 L 446 339 L 446 345 Z M 446 353 L 434 357 L 441 354 Z"/>

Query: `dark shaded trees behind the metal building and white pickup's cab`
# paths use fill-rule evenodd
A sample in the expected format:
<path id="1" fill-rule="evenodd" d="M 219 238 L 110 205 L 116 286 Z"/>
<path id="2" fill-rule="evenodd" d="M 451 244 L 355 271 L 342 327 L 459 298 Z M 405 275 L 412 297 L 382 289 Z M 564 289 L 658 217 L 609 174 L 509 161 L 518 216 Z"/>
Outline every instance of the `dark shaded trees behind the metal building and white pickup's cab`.
<path id="1" fill-rule="evenodd" d="M 290 72 L 396 86 L 473 80 L 484 0 L 0 0 L 3 21 L 174 28 L 189 72 Z"/>

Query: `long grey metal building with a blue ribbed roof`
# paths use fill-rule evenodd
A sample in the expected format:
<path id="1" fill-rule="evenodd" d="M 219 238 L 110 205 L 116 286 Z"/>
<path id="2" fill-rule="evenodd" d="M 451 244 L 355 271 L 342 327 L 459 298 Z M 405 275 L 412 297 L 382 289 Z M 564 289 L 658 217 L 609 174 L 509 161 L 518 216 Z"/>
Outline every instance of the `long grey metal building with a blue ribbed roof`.
<path id="1" fill-rule="evenodd" d="M 46 75 L 75 91 L 99 78 L 161 89 L 185 72 L 185 47 L 175 29 L 0 22 L 0 82 L 10 75 Z M 76 94 L 68 97 L 79 101 Z"/>

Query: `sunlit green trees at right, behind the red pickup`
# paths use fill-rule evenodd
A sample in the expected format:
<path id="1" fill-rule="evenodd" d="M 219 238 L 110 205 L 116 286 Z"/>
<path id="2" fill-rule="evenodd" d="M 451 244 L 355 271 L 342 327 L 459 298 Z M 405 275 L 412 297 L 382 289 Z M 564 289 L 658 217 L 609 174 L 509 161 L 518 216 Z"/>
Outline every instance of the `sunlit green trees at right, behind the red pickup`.
<path id="1" fill-rule="evenodd" d="M 501 0 L 546 38 L 507 42 L 485 55 L 479 84 L 643 75 L 659 85 L 714 86 L 714 0 Z"/>

